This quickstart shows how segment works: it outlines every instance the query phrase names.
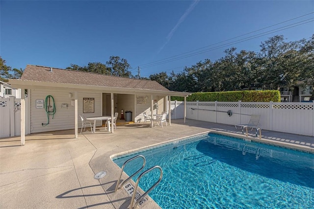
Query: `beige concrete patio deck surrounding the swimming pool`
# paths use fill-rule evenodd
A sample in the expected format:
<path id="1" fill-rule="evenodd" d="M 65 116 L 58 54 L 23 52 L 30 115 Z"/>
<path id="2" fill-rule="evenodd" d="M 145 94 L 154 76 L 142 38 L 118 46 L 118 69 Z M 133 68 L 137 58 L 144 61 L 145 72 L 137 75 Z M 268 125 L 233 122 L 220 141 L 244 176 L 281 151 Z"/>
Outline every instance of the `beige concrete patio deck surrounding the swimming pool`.
<path id="1" fill-rule="evenodd" d="M 99 127 L 78 139 L 74 130 L 31 134 L 25 146 L 19 137 L 0 139 L 0 208 L 128 208 L 131 196 L 123 188 L 113 192 L 120 168 L 110 156 L 209 131 L 246 138 L 232 125 L 178 119 L 163 128 L 118 126 L 114 134 Z M 249 139 L 259 140 L 252 132 Z M 262 130 L 262 142 L 314 153 L 313 137 Z M 95 180 L 99 171 L 107 174 Z M 159 208 L 147 198 L 140 208 Z"/>

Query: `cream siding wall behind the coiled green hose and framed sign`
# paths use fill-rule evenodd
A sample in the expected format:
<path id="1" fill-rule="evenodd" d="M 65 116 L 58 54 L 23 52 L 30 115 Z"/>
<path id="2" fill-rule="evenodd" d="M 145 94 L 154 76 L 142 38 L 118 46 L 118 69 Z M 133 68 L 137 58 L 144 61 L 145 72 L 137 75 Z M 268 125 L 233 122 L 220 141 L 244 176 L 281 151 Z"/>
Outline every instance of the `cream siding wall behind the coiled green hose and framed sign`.
<path id="1" fill-rule="evenodd" d="M 38 133 L 45 131 L 55 131 L 55 130 L 66 130 L 74 129 L 74 114 L 75 108 L 71 106 L 71 100 L 74 100 L 74 92 L 72 92 L 72 98 L 69 97 L 69 92 L 63 91 L 43 91 L 43 90 L 31 90 L 31 101 L 30 101 L 30 132 Z M 43 99 L 45 101 L 47 95 L 52 95 L 54 98 L 54 104 L 56 108 L 55 115 L 52 119 L 50 117 L 49 124 L 47 126 L 42 126 L 42 123 L 47 123 L 48 118 L 44 108 L 36 109 L 36 99 Z M 101 93 L 78 93 L 78 114 L 83 113 L 83 97 L 95 98 L 95 113 L 85 113 L 86 117 L 89 116 L 101 116 Z M 67 108 L 61 108 L 61 104 L 68 104 Z M 52 105 L 52 99 L 51 99 Z M 100 121 L 99 124 L 100 125 Z M 78 127 L 81 126 L 80 117 L 78 117 Z"/>

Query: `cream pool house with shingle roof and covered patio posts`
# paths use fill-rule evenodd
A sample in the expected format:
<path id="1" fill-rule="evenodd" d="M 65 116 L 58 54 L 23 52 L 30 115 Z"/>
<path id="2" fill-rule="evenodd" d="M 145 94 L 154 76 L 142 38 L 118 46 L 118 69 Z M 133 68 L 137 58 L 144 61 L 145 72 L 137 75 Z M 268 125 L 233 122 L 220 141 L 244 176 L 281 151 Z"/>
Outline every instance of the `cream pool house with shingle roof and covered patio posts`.
<path id="1" fill-rule="evenodd" d="M 112 116 L 113 120 L 113 113 L 120 116 L 128 111 L 132 121 L 141 122 L 144 111 L 151 116 L 166 111 L 171 124 L 171 96 L 183 96 L 186 101 L 190 95 L 169 91 L 151 80 L 36 65 L 27 65 L 21 79 L 10 79 L 10 84 L 26 92 L 26 99 L 24 94 L 21 98 L 22 121 L 25 116 L 25 123 L 21 123 L 22 145 L 22 138 L 30 133 L 75 129 L 78 137 L 79 114 Z"/>

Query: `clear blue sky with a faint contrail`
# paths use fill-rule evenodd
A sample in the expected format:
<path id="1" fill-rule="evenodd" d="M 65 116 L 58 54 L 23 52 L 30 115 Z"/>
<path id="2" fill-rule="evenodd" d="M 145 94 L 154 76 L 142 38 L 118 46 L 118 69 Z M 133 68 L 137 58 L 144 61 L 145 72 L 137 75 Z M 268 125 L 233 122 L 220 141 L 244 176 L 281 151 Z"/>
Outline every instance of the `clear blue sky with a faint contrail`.
<path id="1" fill-rule="evenodd" d="M 0 56 L 17 69 L 84 66 L 119 56 L 128 60 L 133 75 L 140 66 L 141 76 L 148 77 L 215 61 L 232 46 L 237 52 L 258 51 L 274 35 L 308 39 L 313 20 L 313 0 L 1 0 Z M 199 51 L 204 53 L 191 54 Z M 157 65 L 159 60 L 163 64 Z"/>

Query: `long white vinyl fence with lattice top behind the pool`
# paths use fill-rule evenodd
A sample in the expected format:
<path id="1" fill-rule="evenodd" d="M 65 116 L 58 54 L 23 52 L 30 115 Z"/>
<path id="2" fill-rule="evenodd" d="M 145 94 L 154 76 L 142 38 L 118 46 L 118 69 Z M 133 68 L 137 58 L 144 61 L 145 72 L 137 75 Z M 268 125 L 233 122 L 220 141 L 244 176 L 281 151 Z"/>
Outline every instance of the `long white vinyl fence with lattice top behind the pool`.
<path id="1" fill-rule="evenodd" d="M 172 119 L 183 118 L 183 111 L 183 102 L 171 101 Z M 262 129 L 314 136 L 314 102 L 186 102 L 188 119 L 235 125 L 252 114 L 261 115 Z"/>

